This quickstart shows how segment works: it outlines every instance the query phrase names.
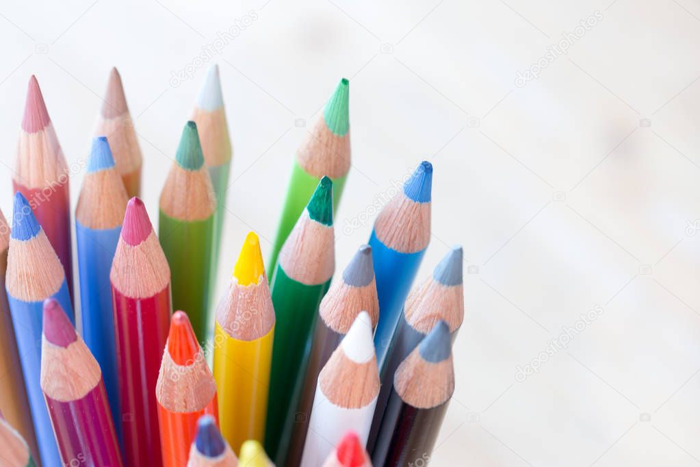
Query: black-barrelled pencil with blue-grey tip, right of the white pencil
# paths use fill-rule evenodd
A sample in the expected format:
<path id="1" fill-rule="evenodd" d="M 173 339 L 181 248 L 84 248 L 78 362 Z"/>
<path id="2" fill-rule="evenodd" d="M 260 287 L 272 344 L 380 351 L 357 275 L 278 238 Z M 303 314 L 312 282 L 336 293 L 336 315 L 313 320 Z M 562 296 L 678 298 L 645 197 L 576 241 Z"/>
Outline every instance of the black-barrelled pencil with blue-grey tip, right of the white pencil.
<path id="1" fill-rule="evenodd" d="M 372 463 L 393 467 L 430 459 L 453 392 L 449 326 L 438 321 L 396 370 Z"/>

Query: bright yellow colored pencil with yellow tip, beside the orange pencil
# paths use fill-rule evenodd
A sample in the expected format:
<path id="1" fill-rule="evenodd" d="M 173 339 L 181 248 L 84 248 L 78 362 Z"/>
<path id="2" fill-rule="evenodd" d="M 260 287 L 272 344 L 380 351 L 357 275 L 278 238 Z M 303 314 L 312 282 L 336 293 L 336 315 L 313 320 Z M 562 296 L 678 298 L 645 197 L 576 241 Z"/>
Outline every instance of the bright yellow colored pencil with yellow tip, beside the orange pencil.
<path id="1" fill-rule="evenodd" d="M 234 450 L 245 440 L 262 441 L 274 309 L 258 235 L 248 233 L 228 291 L 216 309 L 214 379 L 221 432 Z"/>

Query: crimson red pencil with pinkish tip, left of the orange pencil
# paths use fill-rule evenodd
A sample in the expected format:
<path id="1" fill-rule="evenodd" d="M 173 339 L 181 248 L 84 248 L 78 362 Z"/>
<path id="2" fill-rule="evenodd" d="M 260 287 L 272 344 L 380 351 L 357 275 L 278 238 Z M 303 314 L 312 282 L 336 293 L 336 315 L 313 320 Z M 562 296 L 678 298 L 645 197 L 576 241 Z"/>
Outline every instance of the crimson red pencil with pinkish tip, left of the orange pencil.
<path id="1" fill-rule="evenodd" d="M 125 463 L 160 466 L 155 384 L 172 312 L 170 270 L 139 198 L 127 203 L 109 280 Z"/>

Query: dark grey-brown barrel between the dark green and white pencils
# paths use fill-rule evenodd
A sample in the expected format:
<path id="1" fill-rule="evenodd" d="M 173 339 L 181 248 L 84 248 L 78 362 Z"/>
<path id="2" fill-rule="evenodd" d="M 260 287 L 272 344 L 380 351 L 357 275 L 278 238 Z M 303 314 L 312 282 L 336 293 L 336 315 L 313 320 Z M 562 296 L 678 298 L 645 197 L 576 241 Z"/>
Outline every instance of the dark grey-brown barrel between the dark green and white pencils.
<path id="1" fill-rule="evenodd" d="M 316 330 L 314 330 L 314 337 L 311 339 L 309 363 L 304 373 L 299 402 L 295 405 L 297 407 L 295 411 L 288 412 L 280 441 L 280 452 L 286 454 L 286 459 L 282 462 L 284 465 L 297 466 L 301 462 L 304 443 L 309 431 L 309 414 L 311 408 L 314 407 L 318 373 L 321 372 L 325 363 L 328 363 L 328 358 L 337 349 L 342 338 L 342 334 L 328 328 L 322 319 L 316 321 Z M 281 459 L 279 455 L 277 459 Z M 278 461 L 278 463 L 281 462 Z"/>

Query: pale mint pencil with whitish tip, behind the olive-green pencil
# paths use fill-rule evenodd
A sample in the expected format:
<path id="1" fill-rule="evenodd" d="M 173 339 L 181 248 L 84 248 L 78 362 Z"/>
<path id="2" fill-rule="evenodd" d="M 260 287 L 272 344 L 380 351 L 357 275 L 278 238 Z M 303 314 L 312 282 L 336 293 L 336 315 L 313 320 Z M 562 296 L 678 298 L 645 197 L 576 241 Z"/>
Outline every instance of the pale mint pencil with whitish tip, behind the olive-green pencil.
<path id="1" fill-rule="evenodd" d="M 221 95 L 221 82 L 219 81 L 218 65 L 209 67 L 207 77 L 204 78 L 200 93 L 197 95 L 195 109 L 192 112 L 192 120 L 197 123 L 200 130 L 200 142 L 204 153 L 204 163 L 207 164 L 211 185 L 216 195 L 216 216 L 214 216 L 214 246 L 212 257 L 211 284 L 216 284 L 216 264 L 218 251 L 221 246 L 221 232 L 225 218 L 226 190 L 228 189 L 228 176 L 231 166 L 231 139 L 228 134 L 226 112 Z"/>

